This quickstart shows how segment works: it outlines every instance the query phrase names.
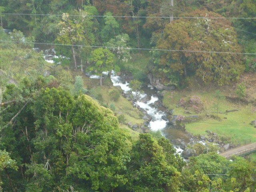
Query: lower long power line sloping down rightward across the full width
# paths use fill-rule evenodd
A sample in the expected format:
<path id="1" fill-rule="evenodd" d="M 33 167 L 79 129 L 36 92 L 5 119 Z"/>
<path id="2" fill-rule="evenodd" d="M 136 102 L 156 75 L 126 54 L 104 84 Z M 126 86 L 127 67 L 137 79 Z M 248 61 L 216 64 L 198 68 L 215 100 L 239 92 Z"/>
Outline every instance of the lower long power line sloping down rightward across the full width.
<path id="1" fill-rule="evenodd" d="M 0 42 L 24 43 L 24 44 L 41 44 L 41 45 L 56 45 L 56 46 L 76 46 L 76 47 L 110 48 L 110 49 L 126 49 L 126 50 L 148 50 L 148 51 L 172 51 L 172 52 L 194 52 L 194 53 L 216 53 L 216 54 L 256 55 L 256 53 L 243 53 L 243 52 L 219 52 L 219 51 L 201 51 L 201 50 L 172 50 L 172 49 L 129 48 L 129 47 L 111 47 L 111 46 L 93 46 L 93 45 L 54 44 L 54 43 L 21 42 L 21 41 L 5 41 L 5 40 L 0 40 Z"/>

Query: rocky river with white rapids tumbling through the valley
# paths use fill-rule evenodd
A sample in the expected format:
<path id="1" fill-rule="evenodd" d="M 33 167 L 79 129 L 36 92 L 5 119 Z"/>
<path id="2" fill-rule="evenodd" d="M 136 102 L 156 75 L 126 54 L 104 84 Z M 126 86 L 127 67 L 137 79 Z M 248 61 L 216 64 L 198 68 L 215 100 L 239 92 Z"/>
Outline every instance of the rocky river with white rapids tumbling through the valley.
<path id="1" fill-rule="evenodd" d="M 54 49 L 44 51 L 44 60 L 46 62 L 54 63 L 54 58 L 58 57 L 59 56 L 56 56 Z M 65 58 L 63 56 L 61 57 Z M 107 76 L 108 72 L 103 72 L 103 74 L 104 76 Z M 100 76 L 90 75 L 90 78 L 99 79 Z M 125 94 L 131 90 L 129 83 L 121 76 L 116 75 L 114 71 L 111 72 L 110 78 L 113 86 L 119 86 Z M 137 106 L 146 111 L 147 115 L 152 118 L 148 124 L 148 128 L 152 131 L 160 131 L 164 137 L 169 139 L 170 142 L 176 146 L 177 152 L 181 154 L 183 150 L 180 148 L 180 142 L 188 144 L 193 143 L 194 140 L 192 136 L 188 135 L 184 130 L 170 126 L 166 118 L 167 114 L 164 112 L 166 109 L 163 108 L 161 103 L 162 101 L 159 98 L 158 91 L 150 85 L 143 88 L 143 93 L 140 93 L 140 100 L 136 102 Z M 176 142 L 177 140 L 179 140 L 178 143 Z"/>

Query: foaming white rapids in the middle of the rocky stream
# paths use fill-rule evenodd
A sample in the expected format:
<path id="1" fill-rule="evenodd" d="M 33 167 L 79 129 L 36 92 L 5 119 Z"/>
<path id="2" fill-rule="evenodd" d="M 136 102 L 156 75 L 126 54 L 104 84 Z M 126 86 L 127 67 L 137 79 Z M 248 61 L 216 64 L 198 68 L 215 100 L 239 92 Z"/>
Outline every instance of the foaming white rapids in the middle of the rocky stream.
<path id="1" fill-rule="evenodd" d="M 131 90 L 129 87 L 129 83 L 122 82 L 121 77 L 116 76 L 114 72 L 112 72 L 111 74 L 111 81 L 113 83 L 113 86 L 120 86 L 125 93 Z M 140 98 L 144 98 L 145 96 L 147 96 L 147 94 L 140 94 Z M 162 116 L 164 116 L 164 112 L 159 111 L 157 108 L 154 108 L 154 106 L 152 106 L 156 101 L 158 101 L 158 97 L 151 96 L 151 99 L 148 102 L 137 102 L 138 106 L 146 110 L 147 114 L 152 117 L 152 120 L 150 121 L 148 127 L 150 127 L 150 129 L 153 131 L 162 130 L 166 127 L 168 123 L 168 121 L 162 119 Z"/>

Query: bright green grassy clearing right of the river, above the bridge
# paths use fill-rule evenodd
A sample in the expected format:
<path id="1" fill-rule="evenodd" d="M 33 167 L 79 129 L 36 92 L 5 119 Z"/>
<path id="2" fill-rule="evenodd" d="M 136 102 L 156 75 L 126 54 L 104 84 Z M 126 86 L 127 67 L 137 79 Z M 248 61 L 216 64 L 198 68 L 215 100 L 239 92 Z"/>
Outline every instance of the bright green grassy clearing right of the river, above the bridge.
<path id="1" fill-rule="evenodd" d="M 233 141 L 243 141 L 248 139 L 256 141 L 256 128 L 250 125 L 250 122 L 256 119 L 254 106 L 251 104 L 239 105 L 238 103 L 233 103 L 224 99 L 219 102 L 219 112 L 221 113 L 219 113 L 218 118 L 216 118 L 217 98 L 214 96 L 214 93 L 215 90 L 181 90 L 167 92 L 164 95 L 163 103 L 168 109 L 174 109 L 174 114 L 200 116 L 198 122 L 186 124 L 186 130 L 192 134 L 206 135 L 206 130 L 210 130 L 216 132 L 219 136 L 230 138 Z M 224 95 L 225 94 L 226 93 L 224 92 Z M 188 100 L 190 96 L 199 96 L 202 100 L 204 110 L 201 113 L 196 113 L 188 108 L 191 114 L 185 114 L 184 107 L 178 106 L 181 98 Z M 238 111 L 225 113 L 226 110 L 234 109 L 238 109 Z"/>

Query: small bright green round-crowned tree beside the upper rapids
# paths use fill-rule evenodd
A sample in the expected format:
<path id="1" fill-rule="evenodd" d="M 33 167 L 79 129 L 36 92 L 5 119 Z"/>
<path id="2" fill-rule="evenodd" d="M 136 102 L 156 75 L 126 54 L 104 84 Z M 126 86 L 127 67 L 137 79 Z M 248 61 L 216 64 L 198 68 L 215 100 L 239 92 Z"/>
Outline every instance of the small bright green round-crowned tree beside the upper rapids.
<path id="1" fill-rule="evenodd" d="M 114 54 L 108 49 L 98 48 L 92 51 L 90 61 L 93 64 L 90 70 L 94 70 L 100 76 L 100 86 L 102 86 L 102 72 L 111 72 L 114 68 Z"/>

